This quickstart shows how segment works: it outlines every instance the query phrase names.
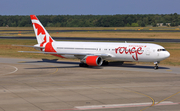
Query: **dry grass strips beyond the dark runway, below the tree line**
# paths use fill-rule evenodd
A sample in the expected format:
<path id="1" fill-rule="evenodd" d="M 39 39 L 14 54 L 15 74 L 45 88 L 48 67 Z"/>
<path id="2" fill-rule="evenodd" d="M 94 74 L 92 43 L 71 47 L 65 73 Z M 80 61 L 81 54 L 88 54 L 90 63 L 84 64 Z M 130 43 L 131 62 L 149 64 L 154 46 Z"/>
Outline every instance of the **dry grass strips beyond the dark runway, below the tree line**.
<path id="1" fill-rule="evenodd" d="M 46 27 L 47 30 L 177 30 L 177 27 Z M 0 27 L 0 36 L 35 36 L 32 27 Z M 25 31 L 18 31 L 25 30 Z M 32 30 L 32 31 L 26 31 Z M 50 32 L 50 31 L 49 31 Z M 179 32 L 50 32 L 52 37 L 88 37 L 88 38 L 158 38 L 158 39 L 180 39 Z"/>

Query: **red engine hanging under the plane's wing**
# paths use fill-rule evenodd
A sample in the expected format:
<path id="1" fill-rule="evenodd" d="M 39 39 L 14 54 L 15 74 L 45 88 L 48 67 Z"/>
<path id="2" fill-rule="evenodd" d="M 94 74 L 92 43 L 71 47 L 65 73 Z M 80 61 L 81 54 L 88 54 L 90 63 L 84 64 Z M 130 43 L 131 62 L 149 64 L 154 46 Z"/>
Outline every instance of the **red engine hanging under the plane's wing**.
<path id="1" fill-rule="evenodd" d="M 81 61 L 86 63 L 89 66 L 101 66 L 103 63 L 103 59 L 99 56 L 87 56 Z"/>

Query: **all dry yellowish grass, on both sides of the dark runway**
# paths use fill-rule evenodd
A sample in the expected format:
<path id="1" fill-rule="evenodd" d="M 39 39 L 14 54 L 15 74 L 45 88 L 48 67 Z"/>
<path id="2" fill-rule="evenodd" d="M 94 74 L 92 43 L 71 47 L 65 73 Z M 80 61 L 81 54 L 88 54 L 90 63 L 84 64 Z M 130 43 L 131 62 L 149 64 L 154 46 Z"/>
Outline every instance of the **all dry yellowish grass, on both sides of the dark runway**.
<path id="1" fill-rule="evenodd" d="M 178 27 L 46 27 L 47 30 L 179 30 Z M 0 36 L 35 36 L 32 27 L 0 27 L 0 30 L 17 30 L 17 31 L 0 31 Z M 18 30 L 32 30 L 21 31 Z M 179 32 L 54 32 L 50 33 L 52 37 L 89 37 L 89 38 L 158 38 L 158 39 L 180 39 Z M 34 45 L 36 40 L 0 40 L 0 57 L 17 57 L 17 58 L 49 58 L 57 59 L 55 56 L 47 54 L 18 53 L 17 51 L 36 51 L 34 48 L 17 47 L 18 45 Z M 164 46 L 171 56 L 163 60 L 161 64 L 180 66 L 180 44 L 179 43 L 157 43 Z M 60 59 L 60 58 L 58 58 Z M 150 64 L 150 63 L 142 63 Z"/>

